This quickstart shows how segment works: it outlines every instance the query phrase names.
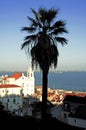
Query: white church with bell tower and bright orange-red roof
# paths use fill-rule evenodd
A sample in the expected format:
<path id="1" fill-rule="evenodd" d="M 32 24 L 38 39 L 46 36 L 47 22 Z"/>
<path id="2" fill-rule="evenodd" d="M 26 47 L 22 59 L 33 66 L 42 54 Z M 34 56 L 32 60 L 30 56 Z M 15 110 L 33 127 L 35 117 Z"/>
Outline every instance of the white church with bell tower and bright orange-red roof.
<path id="1" fill-rule="evenodd" d="M 2 84 L 15 84 L 21 87 L 22 95 L 28 96 L 34 94 L 35 78 L 31 67 L 27 70 L 27 76 L 24 73 L 14 73 L 11 76 L 6 76 L 2 80 Z M 16 93 L 15 93 L 16 94 Z"/>

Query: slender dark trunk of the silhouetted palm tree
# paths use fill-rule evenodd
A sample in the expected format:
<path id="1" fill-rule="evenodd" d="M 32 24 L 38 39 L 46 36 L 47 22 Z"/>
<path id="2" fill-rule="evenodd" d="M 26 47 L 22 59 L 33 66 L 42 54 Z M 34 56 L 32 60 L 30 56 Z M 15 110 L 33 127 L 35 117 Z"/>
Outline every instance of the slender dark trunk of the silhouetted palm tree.
<path id="1" fill-rule="evenodd" d="M 42 77 L 42 119 L 46 118 L 46 109 L 47 109 L 47 88 L 48 88 L 48 71 L 43 70 L 43 77 Z"/>

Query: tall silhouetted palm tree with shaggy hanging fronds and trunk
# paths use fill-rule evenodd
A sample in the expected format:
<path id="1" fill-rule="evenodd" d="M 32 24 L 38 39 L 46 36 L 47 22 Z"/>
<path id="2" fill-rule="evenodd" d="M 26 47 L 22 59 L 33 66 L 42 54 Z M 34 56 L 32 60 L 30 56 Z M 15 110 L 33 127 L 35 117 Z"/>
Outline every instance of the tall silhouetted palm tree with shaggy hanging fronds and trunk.
<path id="1" fill-rule="evenodd" d="M 47 108 L 47 88 L 49 68 L 56 68 L 58 62 L 57 43 L 63 46 L 67 44 L 67 39 L 60 34 L 68 33 L 65 28 L 66 22 L 63 20 L 55 21 L 59 9 L 39 8 L 38 12 L 31 8 L 34 18 L 27 17 L 29 26 L 23 27 L 22 31 L 27 31 L 21 45 L 21 49 L 27 50 L 31 54 L 32 68 L 39 67 L 42 70 L 42 118 L 45 117 Z"/>

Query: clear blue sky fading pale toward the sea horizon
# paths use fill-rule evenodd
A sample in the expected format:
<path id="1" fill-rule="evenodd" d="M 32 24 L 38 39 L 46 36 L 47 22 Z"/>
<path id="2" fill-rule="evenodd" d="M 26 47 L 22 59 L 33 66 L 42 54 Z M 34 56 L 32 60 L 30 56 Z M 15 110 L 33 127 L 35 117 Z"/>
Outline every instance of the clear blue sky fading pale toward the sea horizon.
<path id="1" fill-rule="evenodd" d="M 68 44 L 58 44 L 57 71 L 86 71 L 86 0 L 0 0 L 0 71 L 26 71 L 30 58 L 21 50 L 27 35 L 31 8 L 59 9 L 58 19 L 66 21 Z M 32 16 L 33 17 L 33 16 Z"/>

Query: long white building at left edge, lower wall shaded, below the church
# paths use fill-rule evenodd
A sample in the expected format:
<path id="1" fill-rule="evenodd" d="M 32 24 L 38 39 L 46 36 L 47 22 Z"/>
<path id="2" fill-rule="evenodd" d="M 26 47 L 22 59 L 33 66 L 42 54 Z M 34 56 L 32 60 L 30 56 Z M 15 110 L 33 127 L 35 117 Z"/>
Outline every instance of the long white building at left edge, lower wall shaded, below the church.
<path id="1" fill-rule="evenodd" d="M 23 100 L 20 86 L 13 84 L 0 84 L 0 102 L 6 110 L 11 112 L 22 108 Z"/>

